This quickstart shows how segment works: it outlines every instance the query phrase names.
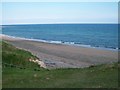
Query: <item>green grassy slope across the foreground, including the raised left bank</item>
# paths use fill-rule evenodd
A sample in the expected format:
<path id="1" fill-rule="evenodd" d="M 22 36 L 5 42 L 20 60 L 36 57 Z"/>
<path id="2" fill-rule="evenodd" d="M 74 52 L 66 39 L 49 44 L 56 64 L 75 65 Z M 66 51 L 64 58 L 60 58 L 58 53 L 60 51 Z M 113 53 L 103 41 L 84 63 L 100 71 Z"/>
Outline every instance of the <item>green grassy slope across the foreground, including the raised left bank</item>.
<path id="1" fill-rule="evenodd" d="M 16 65 L 20 64 L 24 67 L 31 67 L 28 64 L 29 62 L 26 61 L 28 57 L 35 58 L 26 51 L 16 49 L 11 45 L 3 43 L 3 62 L 14 63 Z M 19 60 L 26 64 L 18 63 L 20 62 Z M 118 87 L 118 65 L 119 64 L 115 63 L 109 65 L 99 65 L 84 69 L 40 69 L 39 71 L 34 70 L 34 68 L 37 67 L 36 65 L 32 65 L 31 68 L 26 69 L 4 66 L 3 88 Z"/>

